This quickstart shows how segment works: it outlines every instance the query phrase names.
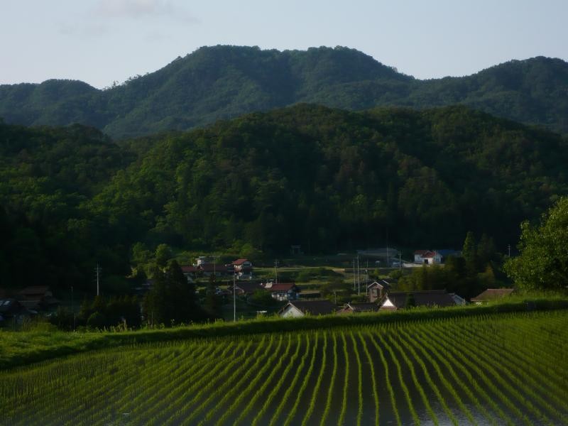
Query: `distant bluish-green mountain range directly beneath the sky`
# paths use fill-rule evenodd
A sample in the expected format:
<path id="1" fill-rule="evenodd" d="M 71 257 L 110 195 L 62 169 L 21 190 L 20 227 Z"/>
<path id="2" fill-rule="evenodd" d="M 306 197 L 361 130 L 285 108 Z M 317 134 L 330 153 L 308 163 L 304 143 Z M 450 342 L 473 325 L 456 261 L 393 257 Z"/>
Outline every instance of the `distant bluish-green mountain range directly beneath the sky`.
<path id="1" fill-rule="evenodd" d="M 568 133 L 568 63 L 539 57 L 467 77 L 416 80 L 349 48 L 219 45 L 104 90 L 71 80 L 0 86 L 6 122 L 80 123 L 114 138 L 187 130 L 301 102 L 349 110 L 465 104 Z"/>

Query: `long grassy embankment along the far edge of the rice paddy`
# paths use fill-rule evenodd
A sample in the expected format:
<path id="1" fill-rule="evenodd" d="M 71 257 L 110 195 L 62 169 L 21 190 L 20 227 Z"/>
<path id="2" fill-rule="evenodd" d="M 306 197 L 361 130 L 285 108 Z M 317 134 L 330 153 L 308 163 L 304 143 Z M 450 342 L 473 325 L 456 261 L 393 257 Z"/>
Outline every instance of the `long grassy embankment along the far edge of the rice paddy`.
<path id="1" fill-rule="evenodd" d="M 263 317 L 258 320 L 194 324 L 171 329 L 141 329 L 133 332 L 58 332 L 0 331 L 0 369 L 31 364 L 58 356 L 76 354 L 105 347 L 146 342 L 200 339 L 231 335 L 292 332 L 329 327 L 350 327 L 366 324 L 388 324 L 433 320 L 437 318 L 471 317 L 501 312 L 568 309 L 567 297 L 511 297 L 506 302 L 489 305 L 469 305 L 444 309 L 415 308 L 396 312 L 360 315 L 327 315 L 282 319 Z"/>

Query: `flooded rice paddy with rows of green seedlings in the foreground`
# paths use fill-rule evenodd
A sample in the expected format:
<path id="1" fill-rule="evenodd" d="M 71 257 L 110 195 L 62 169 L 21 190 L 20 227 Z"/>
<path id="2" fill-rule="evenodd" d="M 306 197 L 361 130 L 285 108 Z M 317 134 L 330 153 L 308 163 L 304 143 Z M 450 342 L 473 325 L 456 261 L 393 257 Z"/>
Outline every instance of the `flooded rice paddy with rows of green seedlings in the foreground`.
<path id="1" fill-rule="evenodd" d="M 1 425 L 567 425 L 568 311 L 133 344 L 0 372 Z"/>

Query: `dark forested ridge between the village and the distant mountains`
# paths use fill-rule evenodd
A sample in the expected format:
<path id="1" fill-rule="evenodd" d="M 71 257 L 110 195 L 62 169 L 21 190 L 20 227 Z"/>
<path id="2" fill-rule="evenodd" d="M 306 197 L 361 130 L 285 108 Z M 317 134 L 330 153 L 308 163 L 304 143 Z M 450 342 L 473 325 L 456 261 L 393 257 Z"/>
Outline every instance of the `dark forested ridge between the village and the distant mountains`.
<path id="1" fill-rule="evenodd" d="M 28 283 L 89 283 L 97 262 L 124 276 L 138 242 L 271 255 L 381 246 L 387 234 L 459 248 L 474 231 L 501 248 L 568 193 L 566 138 L 466 107 L 299 104 L 136 146 L 82 126 L 1 124 L 0 277 L 31 262 L 53 273 Z"/>

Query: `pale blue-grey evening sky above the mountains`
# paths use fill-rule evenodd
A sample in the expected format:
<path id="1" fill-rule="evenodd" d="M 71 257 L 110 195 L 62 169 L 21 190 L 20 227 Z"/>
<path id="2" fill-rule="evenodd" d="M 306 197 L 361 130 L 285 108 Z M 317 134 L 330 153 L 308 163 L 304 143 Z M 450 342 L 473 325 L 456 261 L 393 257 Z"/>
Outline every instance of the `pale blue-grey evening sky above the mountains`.
<path id="1" fill-rule="evenodd" d="M 205 45 L 356 48 L 419 79 L 568 60 L 568 0 L 0 0 L 0 84 L 109 87 Z"/>

